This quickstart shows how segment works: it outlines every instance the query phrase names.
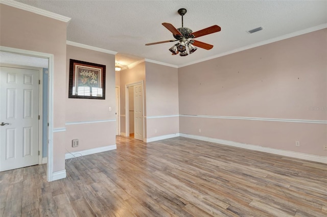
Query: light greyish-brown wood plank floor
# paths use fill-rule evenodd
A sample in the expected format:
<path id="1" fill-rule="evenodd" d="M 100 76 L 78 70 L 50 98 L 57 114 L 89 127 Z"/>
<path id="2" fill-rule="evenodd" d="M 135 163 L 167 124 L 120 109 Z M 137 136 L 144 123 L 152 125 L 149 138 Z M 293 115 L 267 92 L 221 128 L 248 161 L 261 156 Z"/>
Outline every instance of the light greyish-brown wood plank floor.
<path id="1" fill-rule="evenodd" d="M 186 138 L 0 173 L 1 216 L 327 216 L 327 165 Z"/>

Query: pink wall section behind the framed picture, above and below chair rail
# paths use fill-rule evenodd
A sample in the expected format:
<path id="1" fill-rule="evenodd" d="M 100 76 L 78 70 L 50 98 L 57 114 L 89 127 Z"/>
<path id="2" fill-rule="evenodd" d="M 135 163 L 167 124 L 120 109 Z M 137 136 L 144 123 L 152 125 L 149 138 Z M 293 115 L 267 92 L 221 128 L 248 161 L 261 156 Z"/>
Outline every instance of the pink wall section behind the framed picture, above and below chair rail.
<path id="1" fill-rule="evenodd" d="M 106 99 L 68 98 L 69 59 L 106 66 Z M 115 71 L 114 55 L 67 45 L 66 58 L 66 140 L 68 151 L 80 151 L 115 144 Z M 111 107 L 111 111 L 109 111 Z M 92 123 L 94 121 L 106 121 Z M 84 122 L 84 123 L 79 123 Z M 72 148 L 72 140 L 79 147 Z"/>

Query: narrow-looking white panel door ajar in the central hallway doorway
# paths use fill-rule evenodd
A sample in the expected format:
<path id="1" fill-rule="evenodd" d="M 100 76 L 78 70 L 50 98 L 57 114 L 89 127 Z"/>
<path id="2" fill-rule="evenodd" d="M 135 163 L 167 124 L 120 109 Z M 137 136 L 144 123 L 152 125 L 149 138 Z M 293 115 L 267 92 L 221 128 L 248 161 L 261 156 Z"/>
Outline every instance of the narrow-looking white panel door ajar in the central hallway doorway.
<path id="1" fill-rule="evenodd" d="M 134 139 L 143 141 L 143 86 L 134 86 Z"/>

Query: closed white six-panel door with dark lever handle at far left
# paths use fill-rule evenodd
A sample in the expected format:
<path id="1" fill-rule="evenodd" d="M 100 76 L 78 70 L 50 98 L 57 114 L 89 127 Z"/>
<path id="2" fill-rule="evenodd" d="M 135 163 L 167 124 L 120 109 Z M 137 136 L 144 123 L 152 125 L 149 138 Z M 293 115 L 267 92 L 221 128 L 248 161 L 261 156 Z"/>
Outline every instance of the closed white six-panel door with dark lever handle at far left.
<path id="1" fill-rule="evenodd" d="M 38 164 L 39 70 L 0 67 L 0 171 Z"/>

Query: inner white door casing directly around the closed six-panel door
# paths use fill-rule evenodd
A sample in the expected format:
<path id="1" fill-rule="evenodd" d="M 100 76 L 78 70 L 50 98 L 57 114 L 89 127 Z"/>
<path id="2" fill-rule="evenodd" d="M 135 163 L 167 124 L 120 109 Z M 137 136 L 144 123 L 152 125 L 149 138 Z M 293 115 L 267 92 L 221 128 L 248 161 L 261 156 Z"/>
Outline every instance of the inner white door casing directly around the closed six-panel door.
<path id="1" fill-rule="evenodd" d="M 14 64 L 6 64 L 6 63 L 0 63 L 0 66 L 2 67 L 9 67 L 9 68 L 21 68 L 21 69 L 32 69 L 39 71 L 39 80 L 40 83 L 38 85 L 39 88 L 39 120 L 38 120 L 38 149 L 39 149 L 39 155 L 38 155 L 38 164 L 42 164 L 42 153 L 43 153 L 43 68 L 40 67 L 33 67 L 33 66 L 23 66 L 23 65 L 14 65 Z"/>

